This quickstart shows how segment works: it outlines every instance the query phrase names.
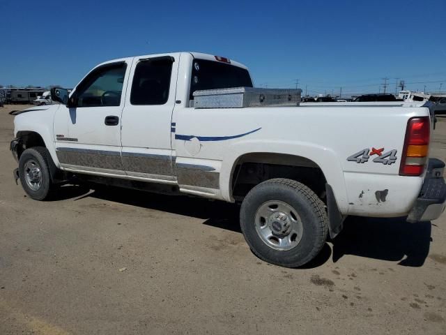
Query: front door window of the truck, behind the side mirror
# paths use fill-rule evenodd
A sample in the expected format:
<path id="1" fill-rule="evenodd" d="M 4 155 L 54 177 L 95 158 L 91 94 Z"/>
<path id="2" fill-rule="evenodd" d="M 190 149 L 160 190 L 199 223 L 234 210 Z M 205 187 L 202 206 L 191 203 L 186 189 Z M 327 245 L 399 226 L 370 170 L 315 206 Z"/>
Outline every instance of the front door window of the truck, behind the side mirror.
<path id="1" fill-rule="evenodd" d="M 125 64 L 113 64 L 93 70 L 77 89 L 77 107 L 120 105 L 125 68 Z"/>

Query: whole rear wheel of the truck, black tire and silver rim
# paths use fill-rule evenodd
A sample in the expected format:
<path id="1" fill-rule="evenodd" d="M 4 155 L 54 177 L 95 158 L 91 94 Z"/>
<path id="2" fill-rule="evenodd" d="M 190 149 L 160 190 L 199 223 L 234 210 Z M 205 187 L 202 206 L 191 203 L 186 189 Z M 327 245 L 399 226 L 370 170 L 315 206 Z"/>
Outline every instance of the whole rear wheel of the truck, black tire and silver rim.
<path id="1" fill-rule="evenodd" d="M 321 251 L 328 233 L 323 202 L 291 179 L 270 179 L 252 188 L 240 209 L 240 226 L 251 250 L 282 267 L 300 267 Z"/>

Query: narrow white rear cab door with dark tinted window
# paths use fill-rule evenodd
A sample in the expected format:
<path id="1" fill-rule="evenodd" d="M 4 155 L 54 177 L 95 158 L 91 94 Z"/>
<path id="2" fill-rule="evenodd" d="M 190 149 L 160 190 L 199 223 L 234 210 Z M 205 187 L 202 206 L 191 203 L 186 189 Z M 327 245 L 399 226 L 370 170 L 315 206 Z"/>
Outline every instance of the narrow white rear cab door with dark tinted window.
<path id="1" fill-rule="evenodd" d="M 137 57 L 122 119 L 122 160 L 129 176 L 174 184 L 171 116 L 179 54 Z"/>

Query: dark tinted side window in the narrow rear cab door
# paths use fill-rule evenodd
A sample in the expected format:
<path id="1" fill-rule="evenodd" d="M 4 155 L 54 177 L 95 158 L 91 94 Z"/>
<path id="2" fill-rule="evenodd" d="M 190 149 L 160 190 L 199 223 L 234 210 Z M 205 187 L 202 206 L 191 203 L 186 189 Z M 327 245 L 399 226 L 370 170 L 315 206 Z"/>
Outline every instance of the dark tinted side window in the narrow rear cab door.
<path id="1" fill-rule="evenodd" d="M 134 70 L 130 103 L 132 105 L 164 105 L 169 98 L 171 57 L 139 61 Z"/>

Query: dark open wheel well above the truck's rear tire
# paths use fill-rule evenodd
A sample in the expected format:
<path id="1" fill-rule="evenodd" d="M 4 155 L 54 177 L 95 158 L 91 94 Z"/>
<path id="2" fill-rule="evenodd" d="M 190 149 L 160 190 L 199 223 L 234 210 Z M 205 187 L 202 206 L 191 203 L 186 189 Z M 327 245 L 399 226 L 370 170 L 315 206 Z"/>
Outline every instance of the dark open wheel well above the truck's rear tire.
<path id="1" fill-rule="evenodd" d="M 238 158 L 231 177 L 232 195 L 242 200 L 257 184 L 272 178 L 287 178 L 308 186 L 325 202 L 326 179 L 314 161 L 302 156 L 256 153 Z"/>

